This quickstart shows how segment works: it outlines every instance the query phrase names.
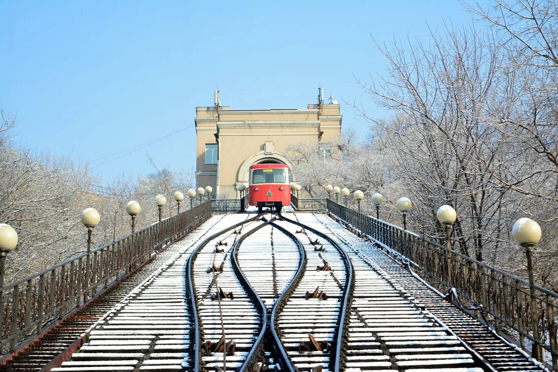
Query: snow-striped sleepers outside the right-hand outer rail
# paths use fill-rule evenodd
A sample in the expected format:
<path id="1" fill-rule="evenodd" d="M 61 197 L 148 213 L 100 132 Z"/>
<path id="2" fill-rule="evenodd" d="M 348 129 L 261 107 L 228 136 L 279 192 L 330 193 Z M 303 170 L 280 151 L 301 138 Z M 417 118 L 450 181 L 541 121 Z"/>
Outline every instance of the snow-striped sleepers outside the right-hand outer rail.
<path id="1" fill-rule="evenodd" d="M 425 311 L 375 260 L 353 245 L 344 244 L 345 240 L 332 234 L 325 224 L 331 222 L 337 228 L 335 233 L 348 234 L 347 230 L 339 229 L 327 216 L 294 217 L 342 244 L 353 263 L 355 281 L 344 364 L 347 371 L 483 370 L 463 342 Z"/>

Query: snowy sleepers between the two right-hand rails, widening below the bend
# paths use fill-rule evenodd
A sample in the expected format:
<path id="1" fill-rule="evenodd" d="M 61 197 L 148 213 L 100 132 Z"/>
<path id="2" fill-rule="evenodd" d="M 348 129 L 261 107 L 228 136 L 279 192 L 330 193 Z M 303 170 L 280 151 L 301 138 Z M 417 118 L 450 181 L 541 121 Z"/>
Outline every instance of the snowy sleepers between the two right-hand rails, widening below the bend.
<path id="1" fill-rule="evenodd" d="M 339 330 L 340 306 L 347 279 L 345 262 L 333 245 L 311 231 L 304 231 L 287 221 L 278 221 L 277 225 L 296 234 L 307 258 L 306 270 L 289 301 L 278 312 L 278 334 L 297 369 L 309 371 L 321 365 L 324 371 L 328 371 L 333 360 L 333 344 Z M 320 240 L 319 244 L 312 244 L 316 240 Z M 315 252 L 315 248 L 324 250 Z M 318 269 L 324 265 L 329 265 L 330 269 Z M 318 296 L 320 298 L 311 298 L 313 293 L 320 292 L 324 293 Z M 304 344 L 311 342 L 310 335 L 321 351 L 305 350 Z"/>

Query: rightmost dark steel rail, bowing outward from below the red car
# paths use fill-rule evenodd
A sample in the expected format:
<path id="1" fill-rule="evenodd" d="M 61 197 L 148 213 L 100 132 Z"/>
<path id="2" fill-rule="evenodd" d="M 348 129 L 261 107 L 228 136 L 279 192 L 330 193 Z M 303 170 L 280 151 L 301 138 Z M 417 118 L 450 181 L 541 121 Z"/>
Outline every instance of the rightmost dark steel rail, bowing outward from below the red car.
<path id="1" fill-rule="evenodd" d="M 345 328 L 345 322 L 347 322 L 347 315 L 349 313 L 349 306 L 350 306 L 350 297 L 352 294 L 352 288 L 353 288 L 353 281 L 354 281 L 354 269 L 353 269 L 353 264 L 351 263 L 351 260 L 349 258 L 349 255 L 347 254 L 347 252 L 345 252 L 345 250 L 343 248 L 341 248 L 341 246 L 339 244 L 336 243 L 335 240 L 333 240 L 332 238 L 330 238 L 328 235 L 321 233 L 320 231 L 311 228 L 310 226 L 300 223 L 299 221 L 295 221 L 292 219 L 288 219 L 285 218 L 284 216 L 282 216 L 280 214 L 280 216 L 283 218 L 283 220 L 290 222 L 294 225 L 300 226 L 301 228 L 304 228 L 305 230 L 311 231 L 312 233 L 320 236 L 321 238 L 324 238 L 325 240 L 327 240 L 341 255 L 341 258 L 343 258 L 343 261 L 345 262 L 345 271 L 346 271 L 346 278 L 345 278 L 345 288 L 344 288 L 344 296 L 343 296 L 343 304 L 341 304 L 341 311 L 339 313 L 339 328 L 337 331 L 337 337 L 335 340 L 335 356 L 334 356 L 334 360 L 333 360 L 333 370 L 335 372 L 339 372 L 341 371 L 340 369 L 340 362 L 341 362 L 341 346 L 343 345 L 343 339 L 345 337 L 345 332 L 347 332 L 347 329 Z"/>

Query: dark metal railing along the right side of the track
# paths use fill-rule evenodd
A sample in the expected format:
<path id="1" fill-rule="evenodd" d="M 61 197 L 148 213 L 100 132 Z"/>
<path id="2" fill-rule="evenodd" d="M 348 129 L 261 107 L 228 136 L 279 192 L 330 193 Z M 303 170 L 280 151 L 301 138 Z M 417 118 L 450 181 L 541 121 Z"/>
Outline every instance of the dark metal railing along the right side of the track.
<path id="1" fill-rule="evenodd" d="M 468 306 L 471 315 L 518 341 L 521 349 L 531 349 L 539 361 L 544 362 L 550 354 L 552 368 L 558 371 L 558 293 L 536 284 L 531 286 L 525 279 L 333 200 L 327 200 L 327 209 L 384 248 L 405 256 L 433 287 L 442 292 L 454 288 L 460 303 Z M 539 348 L 545 352 L 539 352 Z"/>

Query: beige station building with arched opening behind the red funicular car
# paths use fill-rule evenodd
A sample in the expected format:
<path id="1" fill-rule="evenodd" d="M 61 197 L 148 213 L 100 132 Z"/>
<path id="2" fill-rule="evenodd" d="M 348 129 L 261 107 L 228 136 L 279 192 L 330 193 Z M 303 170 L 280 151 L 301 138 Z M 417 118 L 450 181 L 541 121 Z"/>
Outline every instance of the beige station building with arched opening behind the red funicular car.
<path id="1" fill-rule="evenodd" d="M 234 199 L 237 185 L 248 182 L 251 165 L 292 167 L 289 144 L 339 139 L 341 119 L 340 105 L 333 97 L 324 104 L 321 89 L 318 103 L 306 109 L 269 110 L 232 110 L 220 105 L 216 91 L 214 106 L 196 107 L 196 182 Z"/>

